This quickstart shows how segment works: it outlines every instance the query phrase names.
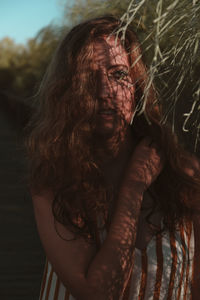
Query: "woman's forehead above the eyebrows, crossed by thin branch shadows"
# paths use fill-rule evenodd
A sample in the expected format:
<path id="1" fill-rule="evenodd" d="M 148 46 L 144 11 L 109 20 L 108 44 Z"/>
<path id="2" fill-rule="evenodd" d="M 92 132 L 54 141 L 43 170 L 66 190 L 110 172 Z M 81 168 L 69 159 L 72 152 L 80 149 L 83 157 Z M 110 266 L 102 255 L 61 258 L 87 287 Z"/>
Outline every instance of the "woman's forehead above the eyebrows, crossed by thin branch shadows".
<path id="1" fill-rule="evenodd" d="M 115 36 L 104 36 L 93 42 L 93 59 L 97 65 L 123 64 L 129 66 L 128 54 Z"/>

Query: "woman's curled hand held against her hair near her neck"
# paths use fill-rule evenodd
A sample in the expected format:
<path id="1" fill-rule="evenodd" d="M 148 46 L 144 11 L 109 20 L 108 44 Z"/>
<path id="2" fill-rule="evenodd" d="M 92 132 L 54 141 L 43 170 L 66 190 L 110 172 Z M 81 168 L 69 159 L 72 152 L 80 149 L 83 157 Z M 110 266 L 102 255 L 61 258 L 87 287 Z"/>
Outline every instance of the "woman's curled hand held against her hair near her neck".
<path id="1" fill-rule="evenodd" d="M 160 174 L 164 163 L 164 153 L 150 137 L 145 137 L 131 156 L 125 180 L 132 184 L 139 183 L 146 190 Z"/>

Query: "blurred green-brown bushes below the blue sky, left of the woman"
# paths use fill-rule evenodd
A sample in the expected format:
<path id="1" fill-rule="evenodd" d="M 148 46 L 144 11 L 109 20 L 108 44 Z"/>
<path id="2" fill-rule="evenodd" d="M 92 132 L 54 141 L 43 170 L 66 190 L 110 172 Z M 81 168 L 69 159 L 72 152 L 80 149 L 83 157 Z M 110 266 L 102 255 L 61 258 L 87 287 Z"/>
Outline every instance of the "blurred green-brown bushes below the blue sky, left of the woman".
<path id="1" fill-rule="evenodd" d="M 0 90 L 18 96 L 36 92 L 47 65 L 62 36 L 62 30 L 47 26 L 25 45 L 9 37 L 0 41 Z"/>

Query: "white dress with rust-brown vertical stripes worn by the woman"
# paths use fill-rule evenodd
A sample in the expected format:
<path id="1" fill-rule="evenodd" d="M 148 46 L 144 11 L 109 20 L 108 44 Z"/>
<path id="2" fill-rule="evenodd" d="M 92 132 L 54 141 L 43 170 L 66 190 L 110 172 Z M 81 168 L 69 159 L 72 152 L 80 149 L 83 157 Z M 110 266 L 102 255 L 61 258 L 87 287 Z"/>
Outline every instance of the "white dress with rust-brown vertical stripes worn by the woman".
<path id="1" fill-rule="evenodd" d="M 105 232 L 100 236 L 101 242 L 104 239 Z M 154 236 L 144 250 L 135 249 L 133 271 L 120 300 L 192 299 L 193 257 L 192 224 L 174 234 L 165 232 Z M 47 260 L 40 300 L 75 300 Z"/>

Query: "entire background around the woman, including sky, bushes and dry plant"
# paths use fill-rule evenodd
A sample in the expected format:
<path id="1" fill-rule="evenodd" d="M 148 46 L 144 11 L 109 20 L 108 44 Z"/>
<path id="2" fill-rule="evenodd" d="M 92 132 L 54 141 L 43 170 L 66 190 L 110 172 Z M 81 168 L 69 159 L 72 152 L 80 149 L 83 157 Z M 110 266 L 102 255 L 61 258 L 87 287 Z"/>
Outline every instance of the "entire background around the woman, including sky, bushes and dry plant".
<path id="1" fill-rule="evenodd" d="M 151 2 L 151 3 L 150 3 Z M 200 4 L 191 0 L 0 1 L 0 299 L 39 297 L 45 255 L 26 184 L 23 130 L 34 95 L 66 32 L 107 13 L 135 28 L 168 121 L 199 149 Z"/>

